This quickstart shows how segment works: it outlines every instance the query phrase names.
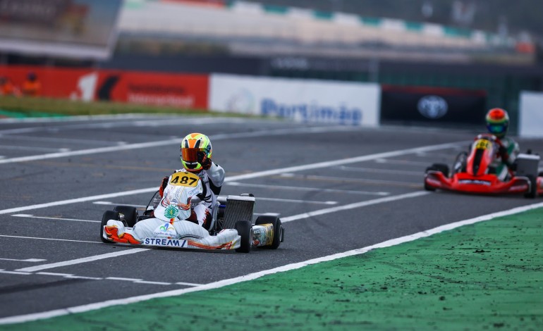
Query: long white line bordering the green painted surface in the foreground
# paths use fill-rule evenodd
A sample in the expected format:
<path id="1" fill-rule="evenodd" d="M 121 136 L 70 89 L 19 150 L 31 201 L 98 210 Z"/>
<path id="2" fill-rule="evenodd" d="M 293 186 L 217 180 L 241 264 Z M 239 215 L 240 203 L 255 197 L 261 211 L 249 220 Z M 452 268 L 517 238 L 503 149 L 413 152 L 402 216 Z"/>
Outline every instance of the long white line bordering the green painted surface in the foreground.
<path id="1" fill-rule="evenodd" d="M 367 251 L 371 251 L 372 249 L 379 249 L 379 248 L 385 248 L 385 247 L 390 247 L 390 246 L 396 246 L 398 244 L 403 244 L 405 242 L 412 242 L 415 239 L 429 237 L 429 236 L 435 235 L 437 233 L 441 233 L 441 232 L 444 232 L 444 231 L 447 231 L 447 230 L 452 230 L 452 229 L 455 229 L 456 227 L 460 227 L 460 226 L 463 226 L 463 225 L 475 224 L 475 223 L 483 222 L 485 220 L 491 220 L 492 218 L 513 215 L 513 214 L 516 214 L 516 213 L 522 213 L 523 211 L 529 211 L 529 210 L 534 209 L 534 208 L 542 208 L 542 207 L 543 207 L 543 203 L 540 202 L 538 204 L 532 204 L 532 205 L 528 205 L 528 206 L 513 208 L 513 209 L 510 209 L 508 211 L 500 211 L 498 213 L 491 213 L 491 214 L 487 214 L 487 215 L 484 215 L 484 216 L 479 216 L 479 217 L 476 217 L 476 218 L 470 218 L 468 220 L 460 220 L 459 222 L 450 223 L 450 224 L 446 224 L 446 225 L 441 225 L 439 227 L 434 227 L 433 229 L 430 229 L 430 230 L 414 233 L 413 235 L 407 235 L 407 236 L 399 237 L 399 238 L 396 238 L 396 239 L 390 239 L 390 240 L 387 240 L 386 242 L 381 242 L 379 244 L 374 244 L 372 246 L 366 246 L 366 247 L 363 247 L 361 249 L 353 249 L 351 251 L 345 251 L 343 253 L 332 254 L 332 255 L 323 256 L 323 257 L 320 257 L 320 258 L 313 258 L 311 260 L 298 262 L 298 263 L 291 263 L 291 264 L 288 264 L 286 266 L 281 266 L 281 267 L 273 268 L 273 269 L 269 269 L 269 270 L 262 270 L 262 271 L 259 271 L 257 273 L 251 273 L 251 274 L 248 274 L 248 275 L 243 275 L 243 276 L 231 278 L 231 279 L 228 279 L 228 280 L 219 280 L 218 282 L 212 282 L 212 283 L 209 283 L 209 284 L 206 284 L 206 285 L 192 287 L 192 288 L 188 288 L 188 289 L 175 289 L 173 291 L 166 291 L 166 292 L 160 292 L 160 293 L 154 293 L 154 294 L 146 294 L 146 295 L 141 295 L 141 296 L 132 296 L 132 297 L 126 298 L 126 299 L 114 299 L 114 300 L 102 301 L 102 302 L 97 302 L 97 303 L 94 303 L 94 304 L 85 304 L 85 305 L 82 305 L 82 306 L 75 306 L 75 307 L 71 307 L 71 308 L 56 309 L 54 311 L 45 311 L 43 313 L 32 313 L 32 314 L 28 314 L 28 315 L 20 315 L 20 316 L 11 316 L 11 317 L 7 317 L 7 318 L 0 318 L 0 325 L 2 325 L 2 324 L 11 324 L 11 323 L 23 323 L 23 322 L 29 322 L 31 320 L 41 320 L 41 319 L 44 319 L 44 318 L 53 318 L 53 317 L 56 317 L 56 316 L 65 316 L 65 315 L 69 315 L 71 313 L 84 313 L 85 311 L 94 311 L 96 309 L 106 308 L 106 307 L 110 307 L 110 306 L 123 305 L 123 304 L 133 304 L 135 302 L 147 301 L 147 300 L 150 300 L 150 299 L 165 298 L 165 297 L 169 297 L 169 296 L 179 296 L 181 294 L 190 293 L 190 292 L 204 291 L 204 290 L 207 290 L 207 289 L 217 289 L 217 288 L 220 288 L 220 287 L 225 287 L 227 285 L 236 284 L 238 282 L 246 282 L 248 280 L 255 280 L 255 279 L 260 278 L 260 277 L 265 276 L 265 275 L 271 275 L 271 274 L 274 274 L 274 273 L 282 273 L 282 272 L 285 272 L 285 271 L 288 271 L 288 270 L 295 270 L 295 269 L 303 268 L 305 266 L 309 266 L 309 265 L 316 264 L 316 263 L 321 263 L 321 262 L 325 262 L 325 261 L 333 261 L 333 260 L 336 260 L 338 258 L 344 258 L 344 257 L 348 257 L 348 256 L 365 254 Z"/>

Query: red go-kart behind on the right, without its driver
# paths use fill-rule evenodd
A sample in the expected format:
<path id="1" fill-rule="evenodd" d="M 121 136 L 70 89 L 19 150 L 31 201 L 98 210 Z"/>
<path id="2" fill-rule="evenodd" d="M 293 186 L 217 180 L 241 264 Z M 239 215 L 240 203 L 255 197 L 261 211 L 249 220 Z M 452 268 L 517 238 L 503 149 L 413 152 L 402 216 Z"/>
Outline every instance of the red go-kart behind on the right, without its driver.
<path id="1" fill-rule="evenodd" d="M 494 135 L 478 135 L 469 154 L 461 153 L 453 165 L 434 163 L 426 169 L 425 189 L 444 189 L 476 194 L 524 194 L 527 198 L 543 195 L 543 174 L 539 173 L 539 155 L 519 154 L 515 172 L 508 170 L 506 180 L 500 180 L 492 168 L 501 142 Z"/>

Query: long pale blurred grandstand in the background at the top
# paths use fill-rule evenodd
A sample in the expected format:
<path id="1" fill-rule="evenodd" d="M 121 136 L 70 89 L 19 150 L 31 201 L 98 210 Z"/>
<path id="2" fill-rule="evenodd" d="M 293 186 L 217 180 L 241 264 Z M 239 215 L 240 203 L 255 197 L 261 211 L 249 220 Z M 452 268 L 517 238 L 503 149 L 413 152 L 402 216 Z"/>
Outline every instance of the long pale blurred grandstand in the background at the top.
<path id="1" fill-rule="evenodd" d="M 360 2 L 341 3 L 354 11 L 360 10 L 361 5 L 355 6 Z M 414 2 L 401 3 L 405 6 Z M 313 9 L 279 6 L 288 3 L 312 4 Z M 518 52 L 517 42 L 510 36 L 436 23 L 317 10 L 330 3 L 324 0 L 131 1 L 132 6 L 126 7 L 119 22 L 121 49 L 145 52 L 147 48 L 156 52 L 157 48 L 167 48 L 157 45 L 183 41 L 220 46 L 207 51 L 220 49 L 238 56 L 401 58 L 458 63 L 481 59 L 526 63 L 534 59 L 532 52 Z M 145 39 L 147 47 L 142 47 Z M 138 46 L 130 47 L 130 43 Z M 181 52 L 190 50 L 185 47 Z"/>

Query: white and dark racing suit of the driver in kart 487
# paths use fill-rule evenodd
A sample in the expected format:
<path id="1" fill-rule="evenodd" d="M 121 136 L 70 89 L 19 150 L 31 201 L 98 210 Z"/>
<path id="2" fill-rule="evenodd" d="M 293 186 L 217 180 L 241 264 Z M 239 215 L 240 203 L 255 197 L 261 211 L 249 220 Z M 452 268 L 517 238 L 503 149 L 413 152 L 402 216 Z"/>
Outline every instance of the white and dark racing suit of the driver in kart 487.
<path id="1" fill-rule="evenodd" d="M 180 169 L 173 173 L 182 172 L 187 172 L 187 170 Z M 197 175 L 202 182 L 202 193 L 197 195 L 201 202 L 194 206 L 188 220 L 209 230 L 209 225 L 212 221 L 211 208 L 216 203 L 216 196 L 221 192 L 221 187 L 224 183 L 224 169 L 220 165 L 212 162 L 209 169 L 202 170 L 200 173 L 197 173 Z M 169 177 L 164 177 L 164 180 L 162 181 L 162 185 L 159 189 L 161 197 L 164 196 L 164 189 L 168 184 L 168 180 Z"/>

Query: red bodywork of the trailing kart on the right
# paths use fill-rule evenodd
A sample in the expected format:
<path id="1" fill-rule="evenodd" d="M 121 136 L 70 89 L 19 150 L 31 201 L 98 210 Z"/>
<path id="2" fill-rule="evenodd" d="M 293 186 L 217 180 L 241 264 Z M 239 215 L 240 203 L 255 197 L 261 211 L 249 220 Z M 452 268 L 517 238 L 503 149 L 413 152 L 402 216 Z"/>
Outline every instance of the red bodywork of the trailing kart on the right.
<path id="1" fill-rule="evenodd" d="M 489 166 L 496 158 L 498 139 L 490 135 L 479 135 L 472 144 L 465 170 L 447 177 L 438 170 L 427 170 L 425 188 L 446 189 L 449 191 L 475 194 L 529 194 L 532 182 L 529 177 L 515 176 L 511 170 L 511 180 L 502 181 L 498 176 L 488 173 Z M 543 177 L 537 177 L 537 195 L 543 195 Z"/>

